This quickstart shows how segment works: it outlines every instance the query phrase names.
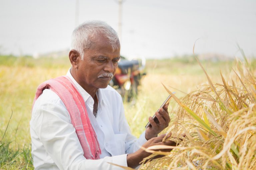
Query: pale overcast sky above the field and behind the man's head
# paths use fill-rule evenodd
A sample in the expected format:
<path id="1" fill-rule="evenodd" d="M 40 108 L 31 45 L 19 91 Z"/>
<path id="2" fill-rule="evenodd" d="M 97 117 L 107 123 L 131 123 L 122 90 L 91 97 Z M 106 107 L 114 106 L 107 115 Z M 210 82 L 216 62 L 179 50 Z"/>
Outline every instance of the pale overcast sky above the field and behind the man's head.
<path id="1" fill-rule="evenodd" d="M 117 0 L 79 0 L 79 23 L 102 20 L 118 31 Z M 69 48 L 76 0 L 0 0 L 0 53 Z M 256 0 L 125 0 L 121 54 L 171 57 L 195 52 L 256 56 Z"/>

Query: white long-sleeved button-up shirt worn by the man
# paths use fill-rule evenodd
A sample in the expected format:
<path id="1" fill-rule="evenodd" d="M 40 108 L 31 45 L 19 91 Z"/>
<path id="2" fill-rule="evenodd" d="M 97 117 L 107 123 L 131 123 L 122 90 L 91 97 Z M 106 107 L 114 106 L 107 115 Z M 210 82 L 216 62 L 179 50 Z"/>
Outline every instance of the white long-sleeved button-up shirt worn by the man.
<path id="1" fill-rule="evenodd" d="M 60 97 L 45 89 L 34 104 L 30 121 L 32 158 L 35 169 L 91 170 L 122 169 L 107 162 L 127 166 L 127 154 L 133 153 L 147 140 L 145 131 L 139 139 L 134 137 L 124 116 L 121 96 L 112 87 L 98 89 L 97 117 L 93 115 L 93 98 L 75 81 L 87 108 L 91 125 L 97 135 L 101 155 L 99 160 L 83 156 L 70 115 Z"/>

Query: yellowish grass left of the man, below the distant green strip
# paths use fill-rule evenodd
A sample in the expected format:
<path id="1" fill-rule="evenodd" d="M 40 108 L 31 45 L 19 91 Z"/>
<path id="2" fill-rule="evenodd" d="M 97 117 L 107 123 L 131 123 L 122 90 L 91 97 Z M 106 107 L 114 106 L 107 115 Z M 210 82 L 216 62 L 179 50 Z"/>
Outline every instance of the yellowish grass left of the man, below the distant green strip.
<path id="1" fill-rule="evenodd" d="M 35 89 L 39 82 L 66 71 L 65 68 L 0 66 L 0 168 L 33 169 L 29 121 Z"/>

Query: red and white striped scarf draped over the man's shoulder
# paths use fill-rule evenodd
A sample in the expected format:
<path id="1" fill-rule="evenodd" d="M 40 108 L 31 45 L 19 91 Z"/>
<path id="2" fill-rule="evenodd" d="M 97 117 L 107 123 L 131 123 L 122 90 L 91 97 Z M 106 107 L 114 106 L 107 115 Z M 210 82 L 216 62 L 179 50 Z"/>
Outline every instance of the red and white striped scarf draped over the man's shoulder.
<path id="1" fill-rule="evenodd" d="M 71 123 L 84 151 L 86 159 L 99 159 L 101 150 L 94 129 L 92 128 L 83 97 L 68 76 L 60 76 L 40 84 L 36 91 L 33 106 L 44 89 L 51 89 L 65 104 Z"/>

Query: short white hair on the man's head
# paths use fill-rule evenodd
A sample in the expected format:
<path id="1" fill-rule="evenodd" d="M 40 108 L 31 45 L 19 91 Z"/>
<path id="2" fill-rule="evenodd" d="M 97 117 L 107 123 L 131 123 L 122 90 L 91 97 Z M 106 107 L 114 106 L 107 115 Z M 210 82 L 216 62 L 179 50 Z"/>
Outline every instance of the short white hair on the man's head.
<path id="1" fill-rule="evenodd" d="M 70 50 L 78 51 L 83 60 L 85 50 L 89 49 L 92 43 L 92 37 L 97 37 L 98 35 L 107 39 L 113 51 L 118 48 L 118 35 L 112 27 L 103 21 L 87 21 L 73 31 Z"/>

